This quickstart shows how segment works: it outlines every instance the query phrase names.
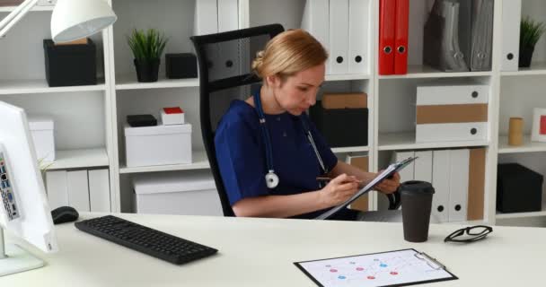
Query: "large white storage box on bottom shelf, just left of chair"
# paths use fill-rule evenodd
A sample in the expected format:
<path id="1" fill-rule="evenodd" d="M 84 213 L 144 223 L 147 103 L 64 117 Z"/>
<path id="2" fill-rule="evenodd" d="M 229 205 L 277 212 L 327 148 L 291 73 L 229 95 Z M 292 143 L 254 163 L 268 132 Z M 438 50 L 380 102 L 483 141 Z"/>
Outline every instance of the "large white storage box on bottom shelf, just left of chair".
<path id="1" fill-rule="evenodd" d="M 139 174 L 133 188 L 137 213 L 223 215 L 209 170 Z"/>

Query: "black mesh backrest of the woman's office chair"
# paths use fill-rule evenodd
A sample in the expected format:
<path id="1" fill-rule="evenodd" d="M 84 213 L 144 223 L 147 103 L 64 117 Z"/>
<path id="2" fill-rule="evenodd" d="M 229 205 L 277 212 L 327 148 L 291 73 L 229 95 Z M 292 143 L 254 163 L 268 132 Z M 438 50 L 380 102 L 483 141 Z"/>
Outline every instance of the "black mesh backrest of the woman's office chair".
<path id="1" fill-rule="evenodd" d="M 250 96 L 251 84 L 260 83 L 251 73 L 251 60 L 283 30 L 280 24 L 271 24 L 190 37 L 198 57 L 201 135 L 225 216 L 234 213 L 216 160 L 216 126 L 232 100 Z"/>

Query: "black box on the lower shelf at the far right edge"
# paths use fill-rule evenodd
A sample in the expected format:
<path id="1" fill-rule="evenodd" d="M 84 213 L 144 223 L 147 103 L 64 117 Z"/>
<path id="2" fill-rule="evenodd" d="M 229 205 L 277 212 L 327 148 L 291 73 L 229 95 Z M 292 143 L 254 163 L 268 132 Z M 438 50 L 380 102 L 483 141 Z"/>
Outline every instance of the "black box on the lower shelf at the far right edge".
<path id="1" fill-rule="evenodd" d="M 501 213 L 528 213 L 542 210 L 541 174 L 517 163 L 498 165 L 497 210 Z"/>

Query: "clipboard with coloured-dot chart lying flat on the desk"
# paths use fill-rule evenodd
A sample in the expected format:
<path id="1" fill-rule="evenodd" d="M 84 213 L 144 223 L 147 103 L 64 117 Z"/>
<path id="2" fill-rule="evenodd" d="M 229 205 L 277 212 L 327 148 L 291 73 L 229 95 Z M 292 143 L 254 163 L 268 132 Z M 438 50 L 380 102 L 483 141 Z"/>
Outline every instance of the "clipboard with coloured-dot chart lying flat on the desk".
<path id="1" fill-rule="evenodd" d="M 321 287 L 407 286 L 459 279 L 435 258 L 413 248 L 294 265 Z"/>

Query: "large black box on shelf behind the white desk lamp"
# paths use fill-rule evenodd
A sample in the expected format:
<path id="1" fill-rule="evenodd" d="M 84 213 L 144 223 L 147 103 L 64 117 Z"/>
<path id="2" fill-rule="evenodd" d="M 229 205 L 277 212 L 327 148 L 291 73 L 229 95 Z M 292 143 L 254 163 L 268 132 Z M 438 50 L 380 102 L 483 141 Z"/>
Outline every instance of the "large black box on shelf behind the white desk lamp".
<path id="1" fill-rule="evenodd" d="M 97 84 L 96 48 L 87 44 L 55 45 L 44 39 L 46 79 L 50 87 Z"/>

